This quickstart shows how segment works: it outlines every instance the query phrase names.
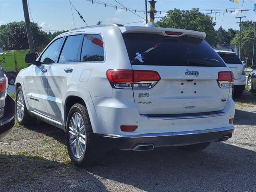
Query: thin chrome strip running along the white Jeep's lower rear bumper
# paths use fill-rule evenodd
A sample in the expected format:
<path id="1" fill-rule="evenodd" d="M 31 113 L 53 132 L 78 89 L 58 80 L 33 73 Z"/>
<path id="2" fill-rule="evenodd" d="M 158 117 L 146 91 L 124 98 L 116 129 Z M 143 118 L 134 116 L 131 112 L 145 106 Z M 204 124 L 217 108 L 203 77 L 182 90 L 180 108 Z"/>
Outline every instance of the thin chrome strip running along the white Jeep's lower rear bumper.
<path id="1" fill-rule="evenodd" d="M 205 129 L 205 130 L 182 131 L 182 132 L 146 133 L 146 134 L 139 134 L 139 135 L 102 134 L 101 136 L 103 136 L 103 137 L 111 137 L 111 138 L 164 137 L 164 136 L 177 136 L 177 135 L 191 135 L 191 134 L 201 134 L 201 133 L 212 133 L 212 132 L 227 131 L 227 130 L 232 130 L 232 129 L 234 129 L 234 126 L 215 128 L 215 129 Z"/>

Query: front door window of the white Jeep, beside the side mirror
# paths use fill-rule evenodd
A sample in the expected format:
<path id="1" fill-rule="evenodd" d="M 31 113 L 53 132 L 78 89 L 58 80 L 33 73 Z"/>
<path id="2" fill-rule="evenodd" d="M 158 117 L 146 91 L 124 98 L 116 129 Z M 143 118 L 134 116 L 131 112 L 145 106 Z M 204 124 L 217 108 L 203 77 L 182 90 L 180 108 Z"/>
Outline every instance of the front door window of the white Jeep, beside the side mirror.
<path id="1" fill-rule="evenodd" d="M 58 50 L 60 43 L 62 41 L 62 38 L 56 39 L 48 48 L 44 51 L 44 53 L 41 55 L 40 61 L 43 64 L 50 64 L 54 63 L 56 60 L 56 56 L 58 55 Z"/>

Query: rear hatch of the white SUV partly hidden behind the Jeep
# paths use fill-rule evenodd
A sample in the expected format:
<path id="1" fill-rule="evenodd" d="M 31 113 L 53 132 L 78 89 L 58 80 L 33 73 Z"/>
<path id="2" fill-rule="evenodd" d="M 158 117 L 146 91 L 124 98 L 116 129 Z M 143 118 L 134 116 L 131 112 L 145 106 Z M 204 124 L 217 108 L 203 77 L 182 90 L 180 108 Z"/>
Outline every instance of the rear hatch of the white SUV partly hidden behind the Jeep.
<path id="1" fill-rule="evenodd" d="M 234 73 L 235 79 L 240 79 L 244 70 L 244 65 L 240 58 L 232 52 L 218 52 L 218 54 Z"/>

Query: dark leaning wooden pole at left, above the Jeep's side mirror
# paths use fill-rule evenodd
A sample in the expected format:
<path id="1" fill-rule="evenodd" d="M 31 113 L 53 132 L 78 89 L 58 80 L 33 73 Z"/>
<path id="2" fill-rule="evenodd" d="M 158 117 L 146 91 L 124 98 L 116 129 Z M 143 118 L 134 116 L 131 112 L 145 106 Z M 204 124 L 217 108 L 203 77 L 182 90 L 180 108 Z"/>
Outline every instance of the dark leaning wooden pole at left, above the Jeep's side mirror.
<path id="1" fill-rule="evenodd" d="M 33 40 L 31 26 L 30 26 L 27 0 L 22 0 L 22 5 L 23 5 L 23 12 L 24 12 L 24 18 L 25 18 L 26 31 L 27 31 L 27 36 L 28 36 L 28 45 L 29 45 L 30 53 L 35 53 L 36 51 L 35 51 L 34 40 Z"/>

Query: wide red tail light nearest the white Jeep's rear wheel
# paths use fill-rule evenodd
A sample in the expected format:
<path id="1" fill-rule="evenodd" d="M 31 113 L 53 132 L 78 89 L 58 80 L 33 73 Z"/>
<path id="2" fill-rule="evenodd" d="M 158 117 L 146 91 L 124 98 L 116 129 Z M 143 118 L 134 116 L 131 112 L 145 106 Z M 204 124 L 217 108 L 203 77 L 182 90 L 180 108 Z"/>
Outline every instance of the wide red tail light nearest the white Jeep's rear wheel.
<path id="1" fill-rule="evenodd" d="M 152 88 L 160 80 L 156 71 L 123 69 L 108 70 L 107 78 L 113 88 L 130 89 Z"/>

